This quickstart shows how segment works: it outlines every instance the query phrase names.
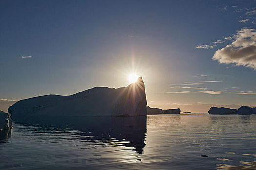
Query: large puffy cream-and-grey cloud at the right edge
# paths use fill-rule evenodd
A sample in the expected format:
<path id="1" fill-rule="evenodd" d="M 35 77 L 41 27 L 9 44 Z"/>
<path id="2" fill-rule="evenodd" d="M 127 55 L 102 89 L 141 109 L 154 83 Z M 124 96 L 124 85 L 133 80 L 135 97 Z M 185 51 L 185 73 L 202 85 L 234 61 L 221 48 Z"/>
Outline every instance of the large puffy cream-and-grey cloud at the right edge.
<path id="1" fill-rule="evenodd" d="M 232 44 L 215 51 L 213 60 L 256 69 L 256 30 L 242 28 L 235 34 Z"/>

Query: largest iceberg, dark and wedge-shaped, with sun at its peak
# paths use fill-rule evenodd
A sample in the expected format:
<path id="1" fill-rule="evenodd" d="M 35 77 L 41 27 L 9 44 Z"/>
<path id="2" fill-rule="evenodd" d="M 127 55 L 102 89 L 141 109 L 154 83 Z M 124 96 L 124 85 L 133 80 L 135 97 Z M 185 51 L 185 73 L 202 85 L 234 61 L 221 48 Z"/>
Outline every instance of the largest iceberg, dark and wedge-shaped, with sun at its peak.
<path id="1" fill-rule="evenodd" d="M 70 96 L 44 95 L 24 99 L 8 108 L 15 116 L 146 116 L 142 77 L 121 88 L 94 87 Z"/>

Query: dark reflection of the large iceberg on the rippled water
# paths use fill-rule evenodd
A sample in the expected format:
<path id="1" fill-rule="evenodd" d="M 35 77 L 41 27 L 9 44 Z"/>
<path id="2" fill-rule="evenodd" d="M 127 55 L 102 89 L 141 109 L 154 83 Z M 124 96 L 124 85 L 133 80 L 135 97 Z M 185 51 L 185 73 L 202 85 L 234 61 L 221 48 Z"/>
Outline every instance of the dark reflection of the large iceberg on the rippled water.
<path id="1" fill-rule="evenodd" d="M 146 145 L 146 120 L 147 117 L 16 117 L 14 121 L 26 124 L 34 135 L 52 134 L 42 137 L 49 142 L 54 140 L 52 137 L 56 141 L 64 137 L 79 141 L 81 148 L 88 143 L 95 147 L 124 146 L 142 154 Z"/>

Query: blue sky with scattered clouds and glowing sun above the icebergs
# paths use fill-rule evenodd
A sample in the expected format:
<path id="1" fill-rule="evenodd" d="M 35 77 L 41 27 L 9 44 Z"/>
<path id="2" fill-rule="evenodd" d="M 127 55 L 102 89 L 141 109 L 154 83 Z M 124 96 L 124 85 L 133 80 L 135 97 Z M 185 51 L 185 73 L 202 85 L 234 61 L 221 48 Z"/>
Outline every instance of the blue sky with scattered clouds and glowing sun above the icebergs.
<path id="1" fill-rule="evenodd" d="M 255 0 L 1 0 L 0 23 L 0 110 L 132 73 L 150 107 L 256 105 Z"/>

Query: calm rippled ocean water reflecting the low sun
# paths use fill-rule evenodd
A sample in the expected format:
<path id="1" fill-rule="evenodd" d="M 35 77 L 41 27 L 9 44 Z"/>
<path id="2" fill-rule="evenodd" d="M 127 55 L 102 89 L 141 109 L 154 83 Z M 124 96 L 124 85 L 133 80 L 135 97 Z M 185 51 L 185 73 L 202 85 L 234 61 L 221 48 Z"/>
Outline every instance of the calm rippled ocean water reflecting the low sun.
<path id="1" fill-rule="evenodd" d="M 0 170 L 256 170 L 256 116 L 17 118 L 0 131 L 0 160 Z"/>

